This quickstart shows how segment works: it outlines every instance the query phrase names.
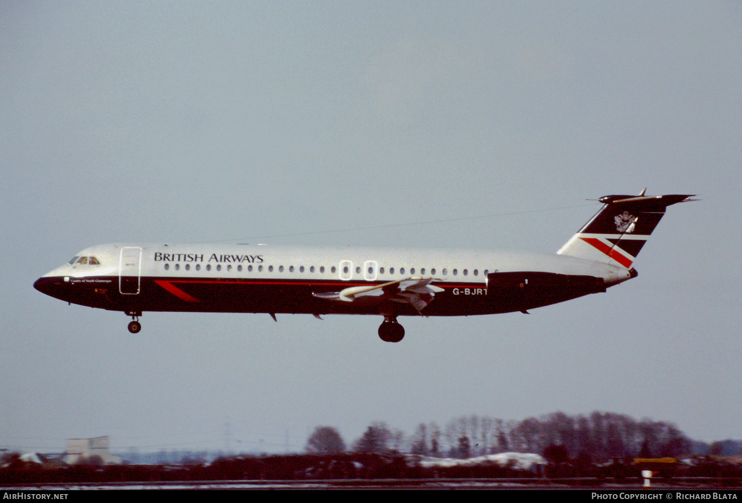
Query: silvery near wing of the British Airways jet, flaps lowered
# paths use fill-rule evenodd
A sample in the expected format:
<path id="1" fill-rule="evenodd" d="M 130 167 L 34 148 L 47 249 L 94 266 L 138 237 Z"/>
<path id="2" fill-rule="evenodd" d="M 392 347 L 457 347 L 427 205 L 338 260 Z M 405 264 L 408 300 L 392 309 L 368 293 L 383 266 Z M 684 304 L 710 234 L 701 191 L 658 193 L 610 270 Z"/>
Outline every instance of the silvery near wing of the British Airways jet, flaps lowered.
<path id="1" fill-rule="evenodd" d="M 430 284 L 435 278 L 407 278 L 396 282 L 375 284 L 372 286 L 348 287 L 339 292 L 312 293 L 318 299 L 353 302 L 364 296 L 377 296 L 401 304 L 412 304 L 418 313 L 430 304 L 436 293 L 443 288 Z M 420 313 L 422 315 L 422 313 Z"/>

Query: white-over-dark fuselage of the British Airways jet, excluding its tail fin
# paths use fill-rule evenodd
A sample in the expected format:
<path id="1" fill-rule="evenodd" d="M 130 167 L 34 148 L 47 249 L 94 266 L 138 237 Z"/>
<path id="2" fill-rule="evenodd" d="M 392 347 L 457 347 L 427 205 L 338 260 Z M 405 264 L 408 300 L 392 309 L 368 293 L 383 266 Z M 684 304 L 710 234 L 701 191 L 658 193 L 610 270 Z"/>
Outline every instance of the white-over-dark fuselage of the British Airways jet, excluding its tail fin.
<path id="1" fill-rule="evenodd" d="M 604 291 L 605 287 L 630 277 L 628 270 L 621 267 L 571 256 L 493 250 L 105 244 L 82 250 L 78 257 L 82 259 L 39 279 L 41 283 L 55 285 L 42 290 L 39 284 L 39 290 L 68 302 L 127 313 L 146 310 L 385 316 L 502 313 Z M 90 258 L 87 264 L 79 263 L 85 258 Z M 561 291 L 564 289 L 550 279 L 548 291 L 544 290 L 545 286 L 541 290 L 531 286 L 533 293 L 528 299 L 515 302 L 510 299 L 508 288 L 495 293 L 489 284 L 492 278 L 508 276 L 505 273 L 551 275 L 557 279 L 591 277 L 602 290 L 591 287 L 589 291 Z M 528 276 L 524 277 L 528 284 Z M 404 288 L 394 294 L 381 290 L 381 285 L 409 285 L 424 279 L 430 280 L 428 290 L 420 290 L 414 284 L 410 286 L 413 293 L 406 293 Z M 521 280 L 516 282 L 525 288 Z M 379 285 L 379 288 L 368 293 L 367 298 L 341 296 L 342 300 L 352 302 L 331 299 L 333 292 L 349 291 L 348 288 L 364 290 L 361 288 L 364 285 Z M 517 295 L 520 292 L 515 290 Z M 405 304 L 405 295 L 417 295 L 424 302 L 417 304 L 417 310 L 413 309 Z M 410 303 L 414 305 L 411 300 Z"/>

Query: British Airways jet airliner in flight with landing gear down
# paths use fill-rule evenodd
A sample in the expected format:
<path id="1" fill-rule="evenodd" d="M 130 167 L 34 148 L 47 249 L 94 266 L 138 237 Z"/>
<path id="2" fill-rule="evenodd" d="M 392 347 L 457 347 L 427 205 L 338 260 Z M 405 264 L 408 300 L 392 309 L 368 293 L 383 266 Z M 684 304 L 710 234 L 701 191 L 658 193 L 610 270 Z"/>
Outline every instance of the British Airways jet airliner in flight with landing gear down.
<path id="1" fill-rule="evenodd" d="M 556 304 L 637 276 L 634 259 L 666 207 L 693 194 L 611 195 L 556 254 L 495 250 L 291 247 L 266 244 L 102 244 L 36 280 L 70 304 L 122 311 L 384 316 L 511 313 Z"/>

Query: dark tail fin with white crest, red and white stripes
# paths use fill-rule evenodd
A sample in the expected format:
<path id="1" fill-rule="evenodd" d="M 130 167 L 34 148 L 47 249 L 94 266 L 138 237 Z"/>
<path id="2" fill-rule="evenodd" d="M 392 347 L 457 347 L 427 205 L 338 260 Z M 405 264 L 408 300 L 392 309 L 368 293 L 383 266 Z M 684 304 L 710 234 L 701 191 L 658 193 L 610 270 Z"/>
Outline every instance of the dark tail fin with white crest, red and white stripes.
<path id="1" fill-rule="evenodd" d="M 643 190 L 640 196 L 603 196 L 598 201 L 605 206 L 557 253 L 630 269 L 666 207 L 695 201 L 692 196 L 644 196 Z"/>

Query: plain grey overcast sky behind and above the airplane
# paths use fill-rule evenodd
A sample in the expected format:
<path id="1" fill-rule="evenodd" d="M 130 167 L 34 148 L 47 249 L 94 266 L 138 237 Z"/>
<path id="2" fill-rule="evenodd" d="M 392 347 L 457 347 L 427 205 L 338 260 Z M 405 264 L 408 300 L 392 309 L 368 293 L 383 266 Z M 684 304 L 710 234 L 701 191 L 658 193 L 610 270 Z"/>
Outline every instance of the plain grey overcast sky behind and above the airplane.
<path id="1" fill-rule="evenodd" d="M 1 0 L 0 447 L 216 449 L 229 423 L 236 449 L 301 450 L 318 424 L 557 410 L 742 439 L 741 83 L 738 1 Z M 637 279 L 405 319 L 399 344 L 378 316 L 132 335 L 32 287 L 117 241 L 551 253 L 585 199 L 645 186 L 703 201 Z"/>

